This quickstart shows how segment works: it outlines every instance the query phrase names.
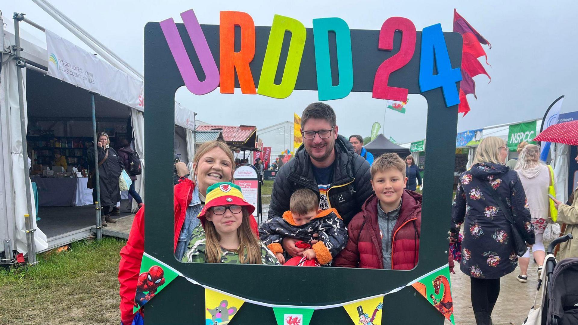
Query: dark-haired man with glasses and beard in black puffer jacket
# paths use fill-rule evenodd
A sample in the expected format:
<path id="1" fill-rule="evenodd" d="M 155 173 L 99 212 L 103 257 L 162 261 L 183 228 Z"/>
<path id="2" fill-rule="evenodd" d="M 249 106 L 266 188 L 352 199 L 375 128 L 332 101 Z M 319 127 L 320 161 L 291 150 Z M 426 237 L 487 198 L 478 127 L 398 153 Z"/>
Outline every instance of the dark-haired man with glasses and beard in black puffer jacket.
<path id="1" fill-rule="evenodd" d="M 291 194 L 302 188 L 318 193 L 320 209 L 336 208 L 345 224 L 361 211 L 372 194 L 369 163 L 338 131 L 331 106 L 316 102 L 305 108 L 301 115 L 303 145 L 277 173 L 269 219 L 282 218 L 289 210 Z M 294 243 L 295 239 L 283 239 L 285 250 L 298 256 L 304 249 L 295 248 Z"/>

